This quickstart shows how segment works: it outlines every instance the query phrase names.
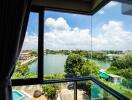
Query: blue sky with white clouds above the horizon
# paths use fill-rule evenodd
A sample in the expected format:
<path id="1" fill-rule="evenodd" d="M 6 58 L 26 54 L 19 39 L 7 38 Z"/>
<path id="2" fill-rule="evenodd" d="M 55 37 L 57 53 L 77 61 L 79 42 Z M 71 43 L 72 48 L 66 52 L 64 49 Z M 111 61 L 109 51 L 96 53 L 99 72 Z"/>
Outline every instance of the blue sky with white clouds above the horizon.
<path id="1" fill-rule="evenodd" d="M 45 11 L 44 49 L 132 50 L 132 16 L 110 2 L 93 16 Z M 38 14 L 29 17 L 23 49 L 36 50 Z"/>

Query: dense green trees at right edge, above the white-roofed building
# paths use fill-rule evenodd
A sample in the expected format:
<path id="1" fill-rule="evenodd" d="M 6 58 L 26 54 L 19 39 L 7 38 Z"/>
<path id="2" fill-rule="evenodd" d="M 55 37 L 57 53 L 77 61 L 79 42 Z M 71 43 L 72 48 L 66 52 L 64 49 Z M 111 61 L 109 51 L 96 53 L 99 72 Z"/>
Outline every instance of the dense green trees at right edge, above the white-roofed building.
<path id="1" fill-rule="evenodd" d="M 106 72 L 132 79 L 132 54 L 115 57 Z"/>

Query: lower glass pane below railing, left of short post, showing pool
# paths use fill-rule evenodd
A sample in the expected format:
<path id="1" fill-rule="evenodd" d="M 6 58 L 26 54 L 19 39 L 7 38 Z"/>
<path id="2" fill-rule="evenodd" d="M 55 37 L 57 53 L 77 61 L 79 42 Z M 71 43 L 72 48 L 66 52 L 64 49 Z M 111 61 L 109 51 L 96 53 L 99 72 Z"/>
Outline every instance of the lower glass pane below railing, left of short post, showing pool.
<path id="1" fill-rule="evenodd" d="M 13 87 L 13 100 L 74 100 L 74 90 L 69 83 L 27 85 Z"/>

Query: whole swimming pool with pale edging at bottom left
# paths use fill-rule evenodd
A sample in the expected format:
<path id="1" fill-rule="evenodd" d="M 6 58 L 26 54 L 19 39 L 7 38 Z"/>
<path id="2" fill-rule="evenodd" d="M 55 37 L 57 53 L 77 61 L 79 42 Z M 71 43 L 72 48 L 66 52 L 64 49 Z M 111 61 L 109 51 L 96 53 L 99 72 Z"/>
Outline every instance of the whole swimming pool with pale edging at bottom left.
<path id="1" fill-rule="evenodd" d="M 13 100 L 30 100 L 28 96 L 23 94 L 21 91 L 13 90 Z"/>

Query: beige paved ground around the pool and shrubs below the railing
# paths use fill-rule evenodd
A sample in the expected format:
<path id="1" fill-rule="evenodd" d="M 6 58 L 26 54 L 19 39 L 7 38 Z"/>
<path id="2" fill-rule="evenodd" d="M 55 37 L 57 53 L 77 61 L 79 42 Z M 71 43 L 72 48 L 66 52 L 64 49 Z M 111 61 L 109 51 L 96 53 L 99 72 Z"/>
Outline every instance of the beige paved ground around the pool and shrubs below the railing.
<path id="1" fill-rule="evenodd" d="M 33 94 L 35 90 L 42 91 L 42 88 L 40 85 L 30 85 L 30 86 L 15 86 L 13 87 L 14 90 L 22 91 L 23 94 L 26 94 L 27 96 L 31 97 L 30 100 L 47 100 L 47 98 L 42 95 L 38 98 L 34 98 Z M 78 100 L 90 100 L 87 95 L 85 95 L 85 92 L 78 89 L 77 90 L 77 98 Z M 58 94 L 57 100 L 74 100 L 74 90 L 67 89 L 67 87 L 63 87 Z"/>

